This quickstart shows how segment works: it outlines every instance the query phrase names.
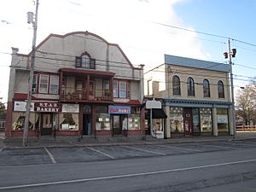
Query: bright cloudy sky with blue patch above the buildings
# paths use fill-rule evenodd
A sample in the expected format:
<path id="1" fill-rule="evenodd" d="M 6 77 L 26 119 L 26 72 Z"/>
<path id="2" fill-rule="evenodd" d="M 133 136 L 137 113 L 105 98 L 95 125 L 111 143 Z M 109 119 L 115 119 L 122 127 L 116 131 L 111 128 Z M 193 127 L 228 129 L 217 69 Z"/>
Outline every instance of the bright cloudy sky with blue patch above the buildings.
<path id="1" fill-rule="evenodd" d="M 35 13 L 32 0 L 0 0 L 0 97 L 7 102 L 11 47 L 28 54 Z M 228 63 L 237 50 L 235 92 L 256 73 L 256 0 L 39 0 L 37 44 L 50 33 L 93 32 L 119 44 L 145 72 L 164 63 L 164 54 Z"/>

